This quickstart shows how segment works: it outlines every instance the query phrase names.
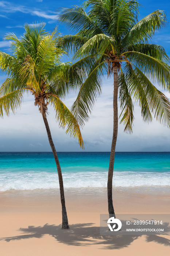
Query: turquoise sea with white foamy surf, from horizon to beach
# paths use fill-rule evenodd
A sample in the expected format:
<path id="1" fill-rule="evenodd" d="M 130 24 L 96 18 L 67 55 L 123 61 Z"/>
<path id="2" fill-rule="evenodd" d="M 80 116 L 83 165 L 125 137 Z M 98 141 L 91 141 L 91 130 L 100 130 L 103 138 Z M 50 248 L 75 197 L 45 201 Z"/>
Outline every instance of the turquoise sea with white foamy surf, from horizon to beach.
<path id="1" fill-rule="evenodd" d="M 109 152 L 60 152 L 65 188 L 106 188 Z M 170 152 L 117 152 L 113 187 L 170 186 Z M 51 152 L 1 152 L 0 191 L 58 188 Z"/>

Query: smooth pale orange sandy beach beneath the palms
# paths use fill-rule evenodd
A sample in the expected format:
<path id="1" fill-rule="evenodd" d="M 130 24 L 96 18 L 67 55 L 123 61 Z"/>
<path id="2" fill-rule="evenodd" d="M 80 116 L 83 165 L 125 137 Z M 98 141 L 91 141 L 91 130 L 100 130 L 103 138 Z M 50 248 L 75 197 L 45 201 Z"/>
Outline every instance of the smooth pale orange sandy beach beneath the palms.
<path id="1" fill-rule="evenodd" d="M 113 190 L 117 213 L 170 213 L 169 188 Z M 169 236 L 100 236 L 106 189 L 66 189 L 70 230 L 61 230 L 55 189 L 0 193 L 0 255 L 169 255 Z"/>

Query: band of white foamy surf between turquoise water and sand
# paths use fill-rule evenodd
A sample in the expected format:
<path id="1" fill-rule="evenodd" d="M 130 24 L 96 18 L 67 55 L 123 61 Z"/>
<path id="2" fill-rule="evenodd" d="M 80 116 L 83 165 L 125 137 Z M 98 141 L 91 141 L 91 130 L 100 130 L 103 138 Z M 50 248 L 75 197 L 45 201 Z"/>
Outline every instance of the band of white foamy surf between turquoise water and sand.
<path id="1" fill-rule="evenodd" d="M 63 173 L 65 188 L 106 188 L 107 172 Z M 114 172 L 113 187 L 169 186 L 170 172 Z M 0 191 L 59 188 L 57 173 L 1 172 Z"/>

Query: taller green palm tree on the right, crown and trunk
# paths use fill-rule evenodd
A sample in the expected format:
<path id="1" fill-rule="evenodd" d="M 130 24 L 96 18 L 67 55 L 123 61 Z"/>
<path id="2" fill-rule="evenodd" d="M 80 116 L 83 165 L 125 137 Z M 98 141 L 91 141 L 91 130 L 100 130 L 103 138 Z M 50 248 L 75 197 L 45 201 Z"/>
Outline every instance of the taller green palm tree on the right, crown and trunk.
<path id="1" fill-rule="evenodd" d="M 80 125 L 87 121 L 97 94 L 100 75 L 113 77 L 113 138 L 108 170 L 108 211 L 114 216 L 112 179 L 118 130 L 118 90 L 121 121 L 125 132 L 132 132 L 134 103 L 139 102 L 145 122 L 157 120 L 170 127 L 170 102 L 153 83 L 170 91 L 169 57 L 162 46 L 151 44 L 155 32 L 166 26 L 164 11 L 154 11 L 138 21 L 136 0 L 87 0 L 82 7 L 62 8 L 58 19 L 76 35 L 63 37 L 63 46 L 82 58 L 88 78 L 72 106 Z M 88 8 L 88 13 L 86 9 Z M 91 61 L 91 62 L 90 62 Z M 96 76 L 96 86 L 90 85 Z M 87 113 L 86 113 L 87 112 Z"/>

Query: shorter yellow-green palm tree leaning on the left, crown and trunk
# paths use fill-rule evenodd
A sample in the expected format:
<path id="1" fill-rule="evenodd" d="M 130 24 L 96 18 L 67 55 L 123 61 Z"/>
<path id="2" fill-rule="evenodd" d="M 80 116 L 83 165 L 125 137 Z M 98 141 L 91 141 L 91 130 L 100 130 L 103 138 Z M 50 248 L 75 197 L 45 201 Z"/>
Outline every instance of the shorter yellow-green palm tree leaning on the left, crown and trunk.
<path id="1" fill-rule="evenodd" d="M 57 165 L 62 205 L 62 229 L 69 229 L 61 166 L 47 121 L 47 105 L 53 106 L 59 126 L 64 128 L 66 125 L 66 133 L 77 138 L 80 146 L 84 147 L 76 118 L 61 101 L 61 97 L 74 87 L 76 71 L 73 74 L 70 63 L 61 63 L 61 56 L 65 52 L 58 44 L 58 30 L 54 29 L 53 32 L 47 33 L 44 27 L 43 23 L 32 26 L 26 24 L 25 33 L 20 39 L 13 33 L 5 37 L 12 41 L 12 54 L 0 52 L 0 67 L 8 75 L 0 87 L 0 116 L 3 117 L 3 112 L 8 116 L 10 110 L 15 113 L 21 106 L 24 93 L 31 93 L 34 96 L 35 105 L 42 114 Z"/>

